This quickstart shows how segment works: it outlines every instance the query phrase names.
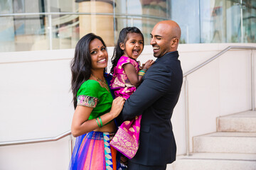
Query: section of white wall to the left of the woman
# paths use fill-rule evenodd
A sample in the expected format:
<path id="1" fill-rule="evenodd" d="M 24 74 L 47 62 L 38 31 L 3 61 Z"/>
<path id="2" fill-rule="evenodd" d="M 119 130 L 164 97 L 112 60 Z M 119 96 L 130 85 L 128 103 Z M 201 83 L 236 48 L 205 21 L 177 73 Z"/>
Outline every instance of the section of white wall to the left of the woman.
<path id="1" fill-rule="evenodd" d="M 0 142 L 55 137 L 70 130 L 73 52 L 0 53 Z M 0 147 L 0 169 L 67 169 L 68 153 L 69 137 Z"/>

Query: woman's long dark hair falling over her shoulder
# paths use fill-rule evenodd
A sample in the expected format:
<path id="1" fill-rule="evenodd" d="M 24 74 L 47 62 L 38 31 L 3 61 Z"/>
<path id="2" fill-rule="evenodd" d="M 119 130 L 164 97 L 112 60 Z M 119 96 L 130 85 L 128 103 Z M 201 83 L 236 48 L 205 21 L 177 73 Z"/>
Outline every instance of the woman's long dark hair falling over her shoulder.
<path id="1" fill-rule="evenodd" d="M 90 57 L 90 42 L 92 40 L 98 39 L 106 47 L 105 42 L 93 33 L 88 33 L 83 36 L 78 44 L 75 46 L 75 57 L 71 61 L 71 90 L 73 92 L 73 103 L 74 107 L 77 106 L 77 94 L 78 89 L 84 81 L 90 78 L 92 73 L 92 60 Z"/>

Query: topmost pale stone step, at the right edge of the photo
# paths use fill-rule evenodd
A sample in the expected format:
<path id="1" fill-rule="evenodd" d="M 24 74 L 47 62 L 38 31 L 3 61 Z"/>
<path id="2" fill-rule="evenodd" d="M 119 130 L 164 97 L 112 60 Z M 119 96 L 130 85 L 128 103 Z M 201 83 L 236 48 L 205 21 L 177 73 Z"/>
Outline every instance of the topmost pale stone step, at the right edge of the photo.
<path id="1" fill-rule="evenodd" d="M 217 118 L 218 132 L 256 132 L 256 111 L 246 111 Z"/>

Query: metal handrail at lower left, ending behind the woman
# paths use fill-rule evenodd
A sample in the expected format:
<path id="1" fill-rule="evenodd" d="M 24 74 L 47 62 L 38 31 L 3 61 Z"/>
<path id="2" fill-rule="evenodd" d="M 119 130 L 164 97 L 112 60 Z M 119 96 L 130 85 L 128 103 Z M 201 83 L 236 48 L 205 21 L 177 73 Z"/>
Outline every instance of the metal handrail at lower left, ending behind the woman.
<path id="1" fill-rule="evenodd" d="M 52 141 L 60 140 L 63 137 L 66 137 L 68 135 L 71 135 L 71 131 L 63 132 L 62 134 L 60 134 L 56 137 L 46 137 L 46 138 L 37 138 L 37 139 L 31 139 L 31 140 L 14 140 L 14 141 L 0 142 L 0 147 L 9 146 L 9 145 L 39 143 L 39 142 L 52 142 Z"/>

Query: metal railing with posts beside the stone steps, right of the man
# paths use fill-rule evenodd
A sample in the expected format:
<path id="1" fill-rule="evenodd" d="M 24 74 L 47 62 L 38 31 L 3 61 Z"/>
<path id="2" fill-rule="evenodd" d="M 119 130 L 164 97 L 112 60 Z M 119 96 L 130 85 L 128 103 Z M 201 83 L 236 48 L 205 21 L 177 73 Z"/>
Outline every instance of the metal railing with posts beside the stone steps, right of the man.
<path id="1" fill-rule="evenodd" d="M 196 72 L 196 70 L 200 69 L 201 67 L 205 66 L 206 64 L 212 62 L 216 58 L 220 57 L 220 55 L 223 55 L 225 52 L 228 52 L 228 50 L 231 49 L 245 49 L 245 50 L 256 50 L 256 47 L 248 47 L 248 46 L 229 46 L 225 48 L 223 51 L 219 52 L 217 55 L 214 55 L 209 60 L 206 60 L 206 62 L 203 62 L 202 64 L 199 64 L 198 66 L 194 67 L 193 69 L 189 70 L 185 74 L 183 74 L 184 79 L 184 94 L 185 94 L 185 121 L 186 121 L 186 155 L 190 155 L 190 142 L 189 142 L 189 113 L 188 113 L 188 75 L 192 74 L 193 72 Z M 252 111 L 255 111 L 255 71 L 254 71 L 254 57 L 253 53 L 251 53 L 251 105 L 252 105 Z"/>

